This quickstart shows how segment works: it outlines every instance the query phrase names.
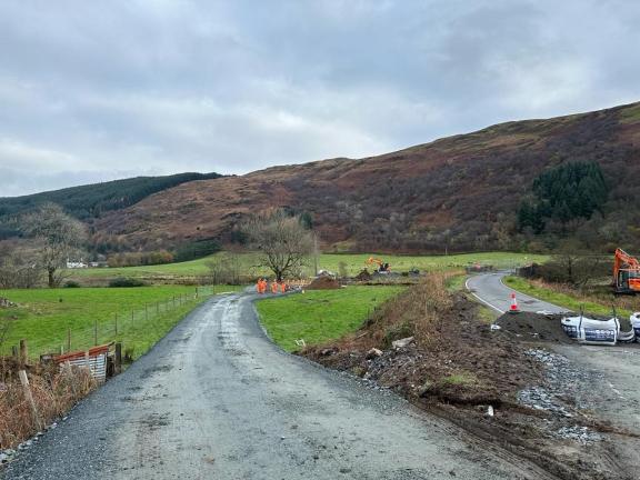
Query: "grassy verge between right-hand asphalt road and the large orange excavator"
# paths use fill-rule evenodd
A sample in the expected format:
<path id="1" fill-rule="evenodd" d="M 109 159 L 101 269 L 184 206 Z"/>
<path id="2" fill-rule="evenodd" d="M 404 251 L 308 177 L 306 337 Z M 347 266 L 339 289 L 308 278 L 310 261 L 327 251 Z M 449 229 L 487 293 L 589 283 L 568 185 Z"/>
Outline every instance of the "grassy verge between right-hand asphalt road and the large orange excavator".
<path id="1" fill-rule="evenodd" d="M 618 314 L 628 317 L 636 310 L 632 304 L 633 299 L 617 298 L 613 294 L 604 297 L 581 294 L 564 286 L 546 283 L 539 280 L 527 280 L 519 277 L 506 277 L 504 283 L 522 293 L 572 311 L 580 311 L 582 307 L 589 313 L 610 316 L 614 306 Z"/>

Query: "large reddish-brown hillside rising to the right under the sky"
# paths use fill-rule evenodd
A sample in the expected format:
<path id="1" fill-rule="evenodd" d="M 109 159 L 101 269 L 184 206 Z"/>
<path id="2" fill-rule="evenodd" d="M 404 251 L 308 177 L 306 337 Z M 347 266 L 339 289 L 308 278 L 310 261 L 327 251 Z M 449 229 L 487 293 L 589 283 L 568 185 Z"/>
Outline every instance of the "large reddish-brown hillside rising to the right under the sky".
<path id="1" fill-rule="evenodd" d="M 229 241 L 243 214 L 291 207 L 310 212 L 323 243 L 339 250 L 519 248 L 537 241 L 518 232 L 516 222 L 533 179 L 576 160 L 598 162 L 610 192 L 603 217 L 570 226 L 571 234 L 598 248 L 633 241 L 640 226 L 640 103 L 498 124 L 380 157 L 191 181 L 104 214 L 96 222 L 96 241 L 130 248 Z"/>

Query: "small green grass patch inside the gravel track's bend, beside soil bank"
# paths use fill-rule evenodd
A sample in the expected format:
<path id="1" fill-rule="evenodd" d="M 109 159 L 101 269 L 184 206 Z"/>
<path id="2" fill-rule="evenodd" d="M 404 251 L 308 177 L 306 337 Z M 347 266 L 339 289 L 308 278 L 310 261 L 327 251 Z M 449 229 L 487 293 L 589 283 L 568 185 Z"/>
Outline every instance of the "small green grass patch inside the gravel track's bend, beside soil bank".
<path id="1" fill-rule="evenodd" d="M 340 290 L 309 290 L 256 303 L 271 339 L 287 351 L 338 339 L 358 330 L 374 307 L 397 296 L 402 287 L 347 287 Z"/>

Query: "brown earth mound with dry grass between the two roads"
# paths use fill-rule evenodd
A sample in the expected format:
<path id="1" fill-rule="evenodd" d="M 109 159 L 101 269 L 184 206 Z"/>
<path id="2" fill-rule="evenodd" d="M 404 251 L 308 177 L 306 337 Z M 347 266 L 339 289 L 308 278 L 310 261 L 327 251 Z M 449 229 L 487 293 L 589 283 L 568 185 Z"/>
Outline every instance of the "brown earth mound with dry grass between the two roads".
<path id="1" fill-rule="evenodd" d="M 477 306 L 444 292 L 424 312 L 427 291 L 418 286 L 383 306 L 360 332 L 302 354 L 349 370 L 408 397 L 456 404 L 499 406 L 517 401 L 517 391 L 540 381 L 540 369 L 523 348 L 477 319 Z M 430 318 L 428 322 L 426 318 Z M 402 349 L 393 340 L 416 336 Z M 383 354 L 367 358 L 372 348 Z M 371 356 L 369 356 L 371 357 Z"/>

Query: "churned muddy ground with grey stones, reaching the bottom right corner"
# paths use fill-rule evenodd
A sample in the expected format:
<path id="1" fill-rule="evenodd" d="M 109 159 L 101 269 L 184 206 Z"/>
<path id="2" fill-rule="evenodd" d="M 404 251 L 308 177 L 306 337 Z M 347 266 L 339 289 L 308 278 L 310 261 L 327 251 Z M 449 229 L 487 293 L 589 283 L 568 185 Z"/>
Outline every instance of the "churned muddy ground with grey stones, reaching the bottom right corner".
<path id="1" fill-rule="evenodd" d="M 416 310 L 417 297 L 409 293 L 352 337 L 301 354 L 391 389 L 558 478 L 639 478 L 639 462 L 629 458 L 634 430 L 597 416 L 586 401 L 590 386 L 601 383 L 598 372 L 553 351 L 580 348 L 570 346 L 559 319 L 506 316 L 497 322 L 502 328 L 492 330 L 467 297 L 449 300 L 428 337 L 398 314 Z M 394 348 L 392 341 L 404 336 L 414 339 Z"/>

